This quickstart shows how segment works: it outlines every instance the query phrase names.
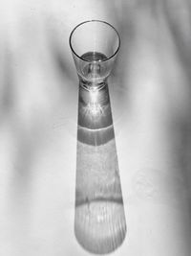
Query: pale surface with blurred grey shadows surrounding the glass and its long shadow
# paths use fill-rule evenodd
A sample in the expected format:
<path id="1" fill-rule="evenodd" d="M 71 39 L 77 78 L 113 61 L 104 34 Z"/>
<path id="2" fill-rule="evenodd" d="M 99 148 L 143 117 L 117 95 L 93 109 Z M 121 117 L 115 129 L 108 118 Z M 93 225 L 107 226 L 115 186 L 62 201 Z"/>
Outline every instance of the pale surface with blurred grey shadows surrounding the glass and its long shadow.
<path id="1" fill-rule="evenodd" d="M 113 255 L 191 253 L 191 3 L 7 0 L 0 8 L 0 255 L 89 255 L 74 238 L 78 79 L 89 19 L 117 28 L 111 106 L 127 222 Z"/>

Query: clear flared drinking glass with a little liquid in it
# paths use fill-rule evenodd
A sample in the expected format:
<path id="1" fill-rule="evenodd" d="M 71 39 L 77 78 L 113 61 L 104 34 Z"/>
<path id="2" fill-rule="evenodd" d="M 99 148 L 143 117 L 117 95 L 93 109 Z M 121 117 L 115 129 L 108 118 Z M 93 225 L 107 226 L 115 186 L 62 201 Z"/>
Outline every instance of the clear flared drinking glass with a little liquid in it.
<path id="1" fill-rule="evenodd" d="M 80 85 L 88 90 L 103 87 L 120 46 L 117 30 L 105 21 L 82 22 L 71 33 L 70 46 Z"/>

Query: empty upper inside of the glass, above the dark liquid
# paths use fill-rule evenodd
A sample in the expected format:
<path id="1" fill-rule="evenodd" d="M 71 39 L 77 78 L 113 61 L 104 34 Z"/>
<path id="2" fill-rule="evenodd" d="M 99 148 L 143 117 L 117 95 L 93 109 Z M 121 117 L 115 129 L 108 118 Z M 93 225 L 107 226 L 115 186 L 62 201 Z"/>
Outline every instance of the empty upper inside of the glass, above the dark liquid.
<path id="1" fill-rule="evenodd" d="M 107 58 L 117 54 L 120 44 L 117 30 L 102 20 L 88 20 L 78 24 L 70 36 L 74 55 L 80 58 L 84 53 L 104 53 Z"/>

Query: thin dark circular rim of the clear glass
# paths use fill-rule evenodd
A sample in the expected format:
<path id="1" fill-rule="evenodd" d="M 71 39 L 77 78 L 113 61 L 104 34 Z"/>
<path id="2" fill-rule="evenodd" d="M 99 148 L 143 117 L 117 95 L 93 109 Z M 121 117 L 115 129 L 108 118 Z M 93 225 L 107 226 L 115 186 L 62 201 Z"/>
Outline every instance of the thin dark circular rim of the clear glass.
<path id="1" fill-rule="evenodd" d="M 72 30 L 71 35 L 70 35 L 70 37 L 69 37 L 69 44 L 70 44 L 71 50 L 72 50 L 72 52 L 74 53 L 74 55 L 75 55 L 77 58 L 82 59 L 83 61 L 92 62 L 91 60 L 88 60 L 88 59 L 86 59 L 86 58 L 81 58 L 80 56 L 78 56 L 78 55 L 75 53 L 74 48 L 73 48 L 73 46 L 72 46 L 72 36 L 73 36 L 73 34 L 74 34 L 74 31 L 75 31 L 78 27 L 80 27 L 81 25 L 83 25 L 83 24 L 85 24 L 85 23 L 89 23 L 89 22 L 100 22 L 100 23 L 104 23 L 104 24 L 110 26 L 110 27 L 116 32 L 117 38 L 118 38 L 117 50 L 116 50 L 115 53 L 114 53 L 112 56 L 110 56 L 109 58 L 104 58 L 104 59 L 99 60 L 99 61 L 104 62 L 104 61 L 109 60 L 110 58 L 115 57 L 115 56 L 117 55 L 117 52 L 118 52 L 119 48 L 120 48 L 120 36 L 119 36 L 119 34 L 118 34 L 118 32 L 117 32 L 117 29 L 116 29 L 113 25 L 111 25 L 110 23 L 108 23 L 108 22 L 106 22 L 106 21 L 104 21 L 104 20 L 99 20 L 99 19 L 86 20 L 86 21 L 83 21 L 83 22 L 77 24 L 77 25 L 74 27 L 74 29 Z"/>

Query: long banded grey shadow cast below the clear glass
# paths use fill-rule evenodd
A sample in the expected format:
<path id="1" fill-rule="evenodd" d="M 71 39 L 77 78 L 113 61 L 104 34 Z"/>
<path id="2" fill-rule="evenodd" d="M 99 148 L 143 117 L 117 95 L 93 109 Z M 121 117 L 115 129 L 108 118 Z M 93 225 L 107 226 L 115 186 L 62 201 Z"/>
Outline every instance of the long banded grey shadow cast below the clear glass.
<path id="1" fill-rule="evenodd" d="M 87 251 L 110 253 L 122 244 L 126 221 L 108 85 L 79 86 L 74 234 Z"/>

